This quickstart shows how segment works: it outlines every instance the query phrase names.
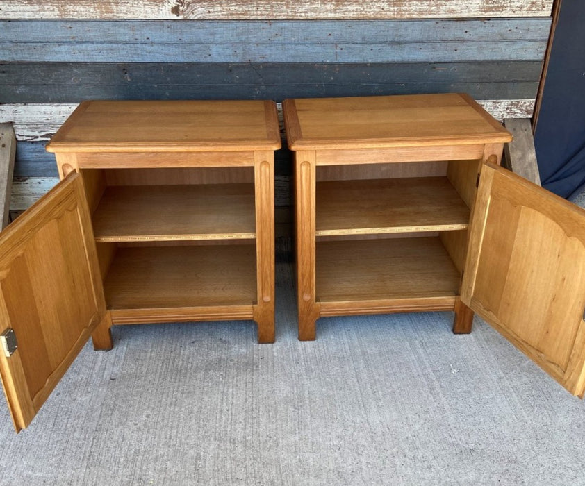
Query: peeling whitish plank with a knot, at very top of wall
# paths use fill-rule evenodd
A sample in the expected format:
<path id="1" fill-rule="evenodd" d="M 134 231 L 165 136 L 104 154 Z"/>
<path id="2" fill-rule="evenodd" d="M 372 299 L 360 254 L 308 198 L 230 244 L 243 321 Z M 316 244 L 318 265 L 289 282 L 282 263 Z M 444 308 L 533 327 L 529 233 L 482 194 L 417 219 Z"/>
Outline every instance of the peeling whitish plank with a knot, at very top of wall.
<path id="1" fill-rule="evenodd" d="M 552 0 L 77 0 L 0 2 L 5 19 L 408 19 L 547 17 Z"/>

